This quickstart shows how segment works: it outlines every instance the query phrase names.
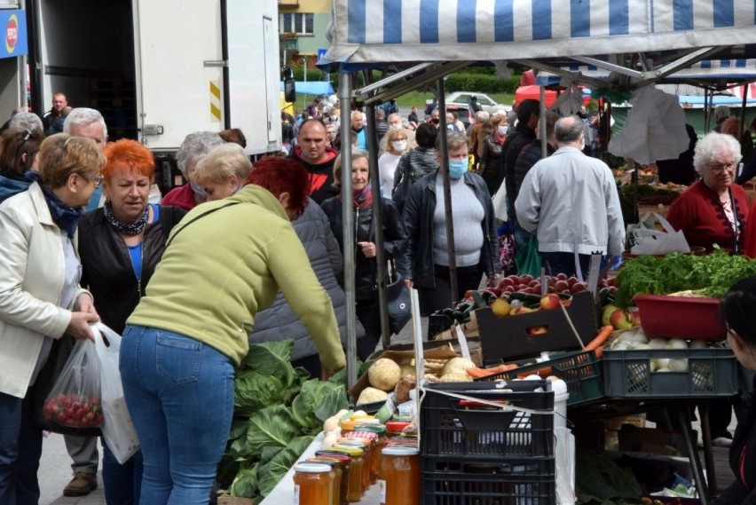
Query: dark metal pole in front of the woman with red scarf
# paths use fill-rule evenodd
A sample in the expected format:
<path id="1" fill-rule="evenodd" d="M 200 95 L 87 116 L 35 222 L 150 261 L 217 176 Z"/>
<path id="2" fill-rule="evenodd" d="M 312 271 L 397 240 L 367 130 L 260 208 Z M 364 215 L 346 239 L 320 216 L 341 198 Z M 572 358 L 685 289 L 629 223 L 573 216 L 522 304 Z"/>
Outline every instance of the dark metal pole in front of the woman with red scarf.
<path id="1" fill-rule="evenodd" d="M 389 327 L 389 297 L 386 294 L 386 255 L 383 249 L 383 216 L 381 213 L 381 178 L 378 174 L 378 138 L 375 135 L 375 105 L 367 106 L 367 158 L 370 162 L 370 185 L 373 190 L 373 229 L 375 233 L 375 266 L 378 274 L 378 307 L 381 311 L 381 340 L 383 349 L 391 343 Z M 360 253 L 357 253 L 360 254 Z"/>

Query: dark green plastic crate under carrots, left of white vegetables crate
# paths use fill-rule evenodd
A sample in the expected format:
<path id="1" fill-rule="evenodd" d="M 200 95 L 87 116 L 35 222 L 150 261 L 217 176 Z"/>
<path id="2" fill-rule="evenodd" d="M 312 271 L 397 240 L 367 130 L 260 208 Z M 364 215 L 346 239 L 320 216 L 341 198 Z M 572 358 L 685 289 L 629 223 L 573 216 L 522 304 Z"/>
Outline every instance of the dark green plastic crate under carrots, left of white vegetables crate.
<path id="1" fill-rule="evenodd" d="M 567 384 L 567 391 L 570 393 L 570 398 L 567 398 L 568 406 L 587 405 L 604 396 L 602 366 L 601 361 L 596 358 L 595 351 L 565 352 L 553 359 L 532 365 L 526 365 L 525 360 L 516 361 L 516 363 L 520 367 L 476 379 L 476 381 L 509 381 L 551 368 L 549 375 L 556 375 Z"/>

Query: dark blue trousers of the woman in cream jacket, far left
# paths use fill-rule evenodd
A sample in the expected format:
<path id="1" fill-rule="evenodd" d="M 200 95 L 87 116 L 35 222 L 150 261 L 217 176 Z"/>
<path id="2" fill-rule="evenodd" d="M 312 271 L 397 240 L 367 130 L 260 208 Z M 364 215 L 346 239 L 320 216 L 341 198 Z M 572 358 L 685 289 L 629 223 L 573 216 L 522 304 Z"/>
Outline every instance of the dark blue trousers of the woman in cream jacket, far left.
<path id="1" fill-rule="evenodd" d="M 42 430 L 31 422 L 34 388 L 26 398 L 0 393 L 0 505 L 39 502 Z"/>

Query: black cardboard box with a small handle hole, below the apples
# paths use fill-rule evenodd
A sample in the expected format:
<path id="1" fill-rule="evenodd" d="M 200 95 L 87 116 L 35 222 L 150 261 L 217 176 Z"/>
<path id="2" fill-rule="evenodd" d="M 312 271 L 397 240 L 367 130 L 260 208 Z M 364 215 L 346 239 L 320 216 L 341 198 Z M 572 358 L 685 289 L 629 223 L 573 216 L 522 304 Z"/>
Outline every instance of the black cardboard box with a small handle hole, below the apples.
<path id="1" fill-rule="evenodd" d="M 565 307 L 572 325 L 584 345 L 598 335 L 593 297 L 587 291 L 572 296 Z M 483 347 L 484 362 L 508 361 L 539 356 L 542 351 L 573 351 L 580 343 L 561 309 L 539 310 L 499 318 L 491 309 L 476 311 L 477 326 Z M 545 333 L 531 335 L 532 328 L 545 328 Z"/>

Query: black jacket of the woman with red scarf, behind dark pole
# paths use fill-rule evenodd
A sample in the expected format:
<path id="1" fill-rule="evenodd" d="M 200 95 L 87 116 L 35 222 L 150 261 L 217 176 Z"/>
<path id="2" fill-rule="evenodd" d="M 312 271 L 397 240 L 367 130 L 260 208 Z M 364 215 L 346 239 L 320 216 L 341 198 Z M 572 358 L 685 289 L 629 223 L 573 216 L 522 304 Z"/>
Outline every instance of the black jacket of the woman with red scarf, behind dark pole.
<path id="1" fill-rule="evenodd" d="M 331 231 L 334 233 L 336 241 L 339 242 L 339 248 L 343 251 L 342 203 L 341 196 L 336 196 L 329 198 L 320 205 L 326 212 L 328 221 L 331 224 Z M 354 209 L 354 211 L 355 242 L 374 242 L 373 208 Z M 383 250 L 386 259 L 396 260 L 398 272 L 403 276 L 408 276 L 407 265 L 409 264 L 409 259 L 406 256 L 408 247 L 407 235 L 394 202 L 387 198 L 382 198 L 381 214 L 383 219 Z M 374 299 L 378 293 L 378 274 L 375 258 L 366 257 L 362 253 L 362 249 L 357 246 L 357 243 L 355 243 L 354 248 L 355 296 L 358 300 Z"/>

